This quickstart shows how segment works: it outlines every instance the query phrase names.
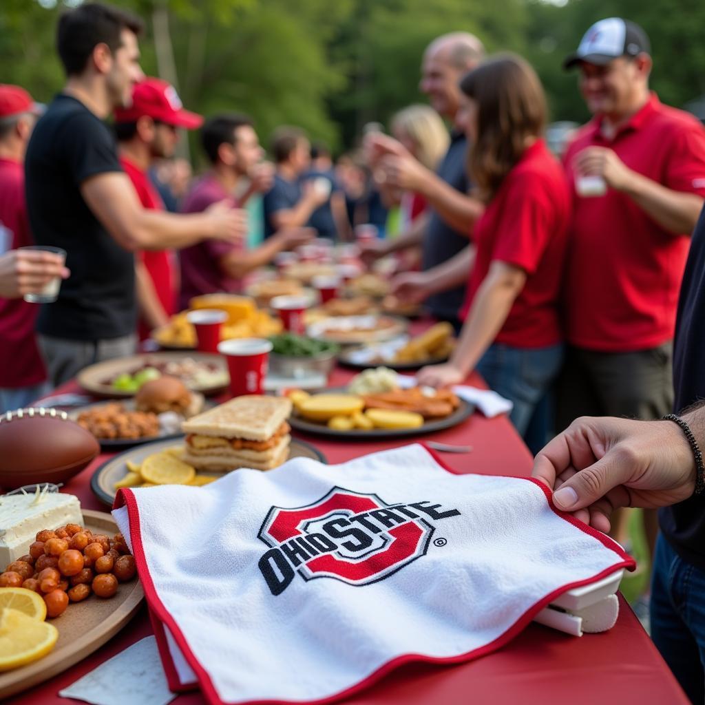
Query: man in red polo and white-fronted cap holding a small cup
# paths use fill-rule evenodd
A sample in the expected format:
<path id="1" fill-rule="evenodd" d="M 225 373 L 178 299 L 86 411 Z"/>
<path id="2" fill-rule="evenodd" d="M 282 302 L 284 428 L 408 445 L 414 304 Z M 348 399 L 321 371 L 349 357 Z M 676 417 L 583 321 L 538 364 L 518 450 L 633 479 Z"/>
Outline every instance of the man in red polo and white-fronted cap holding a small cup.
<path id="1" fill-rule="evenodd" d="M 565 68 L 594 115 L 565 154 L 573 216 L 558 420 L 658 419 L 673 405 L 676 305 L 705 196 L 705 130 L 649 91 L 649 39 L 601 20 Z M 655 541 L 656 522 L 651 522 Z"/>

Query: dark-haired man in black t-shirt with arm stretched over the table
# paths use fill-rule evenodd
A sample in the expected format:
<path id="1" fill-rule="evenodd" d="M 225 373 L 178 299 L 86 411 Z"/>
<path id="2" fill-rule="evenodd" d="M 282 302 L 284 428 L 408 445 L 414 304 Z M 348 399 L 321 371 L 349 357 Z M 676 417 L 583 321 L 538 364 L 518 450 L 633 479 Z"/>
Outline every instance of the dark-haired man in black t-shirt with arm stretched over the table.
<path id="1" fill-rule="evenodd" d="M 130 104 L 143 78 L 141 23 L 116 8 L 84 4 L 63 14 L 56 45 L 67 82 L 37 123 L 25 158 L 27 212 L 35 240 L 67 252 L 71 276 L 43 305 L 39 346 L 61 384 L 99 360 L 135 349 L 134 250 L 238 240 L 246 215 L 217 204 L 198 215 L 142 208 L 102 122 Z"/>

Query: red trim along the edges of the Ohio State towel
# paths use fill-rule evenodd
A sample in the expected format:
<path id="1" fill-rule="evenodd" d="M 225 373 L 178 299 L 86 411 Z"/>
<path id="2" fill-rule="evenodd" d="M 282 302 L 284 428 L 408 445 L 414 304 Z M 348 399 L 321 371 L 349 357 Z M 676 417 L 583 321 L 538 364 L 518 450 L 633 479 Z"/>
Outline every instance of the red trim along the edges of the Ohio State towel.
<path id="1" fill-rule="evenodd" d="M 433 450 L 427 448 L 426 446 L 423 446 L 423 444 L 421 445 L 424 450 L 427 450 L 427 453 L 429 453 L 431 458 L 433 458 L 433 460 L 437 462 L 440 467 L 443 468 L 443 470 L 447 470 L 448 472 L 452 472 L 453 474 L 461 474 L 447 467 L 443 460 L 441 460 L 436 455 L 436 453 L 433 452 Z M 621 570 L 622 568 L 627 568 L 627 570 L 634 570 L 636 565 L 635 560 L 630 556 L 627 556 L 627 553 L 623 551 L 623 548 L 621 548 L 619 544 L 617 544 L 615 541 L 612 541 L 612 539 L 606 537 L 604 534 L 601 534 L 601 532 L 598 532 L 592 527 L 589 527 L 588 525 L 584 524 L 584 522 L 577 520 L 572 515 L 565 512 L 561 512 L 556 509 L 556 507 L 553 505 L 551 490 L 549 490 L 548 487 L 546 487 L 542 482 L 539 482 L 538 480 L 530 477 L 513 479 L 526 479 L 529 482 L 532 482 L 533 484 L 539 486 L 539 488 L 544 492 L 544 495 L 546 496 L 546 501 L 548 502 L 548 505 L 551 507 L 553 512 L 556 513 L 556 515 L 566 520 L 567 522 L 575 526 L 577 529 L 580 529 L 582 532 L 589 534 L 591 537 L 600 541 L 603 546 L 606 546 L 606 548 L 610 548 L 611 551 L 614 551 L 614 553 L 616 553 L 620 558 L 622 558 L 622 560 L 620 560 L 620 562 L 618 563 L 615 563 L 615 565 L 611 565 L 609 568 L 602 570 L 597 575 L 593 575 L 592 577 L 585 578 L 584 580 L 577 580 L 576 582 L 571 582 L 567 585 L 563 585 L 562 587 L 559 587 L 550 594 L 544 596 L 543 599 L 539 600 L 532 607 L 530 607 L 511 627 L 509 627 L 506 632 L 497 637 L 494 642 L 490 642 L 489 644 L 480 646 L 479 648 L 474 649 L 472 651 L 467 651 L 467 653 L 465 654 L 458 654 L 458 656 L 450 656 L 448 658 L 436 658 L 434 656 L 426 656 L 424 654 L 405 654 L 403 656 L 398 656 L 398 658 L 393 658 L 391 661 L 388 661 L 384 664 L 384 666 L 380 666 L 380 668 L 374 671 L 374 673 L 369 675 L 367 678 L 364 678 L 364 680 L 361 680 L 360 682 L 349 687 L 348 689 L 345 689 L 326 698 L 308 701 L 310 704 L 325 705 L 326 703 L 332 703 L 345 697 L 349 697 L 350 695 L 353 695 L 369 687 L 374 682 L 383 678 L 384 675 L 389 673 L 391 670 L 394 670 L 399 666 L 403 666 L 405 663 L 463 663 L 465 661 L 472 661 L 474 658 L 479 658 L 480 656 L 486 656 L 487 654 L 491 654 L 493 651 L 500 649 L 502 646 L 510 642 L 511 639 L 513 639 L 517 634 L 519 634 L 529 624 L 529 622 L 531 622 L 531 620 L 534 618 L 534 615 L 539 613 L 544 607 L 548 606 L 551 601 L 556 599 L 556 597 L 558 597 L 559 595 L 562 595 L 564 592 L 575 589 L 577 587 L 582 587 L 583 585 L 589 585 L 593 582 L 597 582 L 598 580 L 602 580 L 604 577 L 607 577 L 608 575 L 611 575 L 613 572 Z M 128 519 L 130 521 L 130 540 L 132 542 L 135 563 L 137 564 L 137 571 L 139 572 L 140 580 L 142 580 L 142 587 L 145 590 L 145 596 L 147 598 L 147 604 L 150 608 L 150 613 L 152 613 L 153 611 L 154 619 L 161 620 L 168 627 L 169 631 L 171 632 L 171 635 L 174 638 L 174 641 L 176 642 L 176 644 L 178 644 L 181 653 L 183 654 L 185 660 L 188 662 L 188 665 L 197 675 L 201 690 L 207 701 L 212 705 L 230 705 L 231 701 L 226 702 L 220 699 L 219 694 L 216 691 L 209 674 L 197 661 L 197 658 L 191 651 L 190 646 L 188 645 L 188 642 L 186 641 L 183 633 L 176 624 L 176 620 L 174 620 L 173 617 L 168 613 L 166 607 L 164 606 L 164 603 L 162 603 L 161 599 L 159 599 L 157 590 L 154 587 L 154 582 L 152 581 L 152 576 L 149 575 L 149 568 L 147 567 L 145 551 L 144 547 L 142 546 L 140 513 L 139 508 L 137 507 L 137 501 L 135 500 L 135 495 L 133 494 L 132 490 L 118 490 L 118 494 L 116 494 L 113 508 L 116 509 L 123 505 L 126 505 L 128 509 Z M 164 650 L 160 648 L 159 654 L 162 657 L 162 661 L 164 663 L 169 664 L 168 666 L 165 666 L 165 670 L 167 668 L 173 668 L 173 673 L 176 674 L 176 668 L 174 668 L 173 666 L 171 652 L 169 651 L 168 646 L 166 645 L 166 637 L 164 636 L 164 634 L 162 634 L 162 637 L 164 637 L 165 648 Z M 157 644 L 159 644 L 159 639 L 157 640 Z M 169 687 L 171 688 L 171 682 L 169 682 Z M 238 705 L 275 705 L 276 703 L 291 703 L 301 705 L 301 701 L 285 700 L 239 701 Z"/>

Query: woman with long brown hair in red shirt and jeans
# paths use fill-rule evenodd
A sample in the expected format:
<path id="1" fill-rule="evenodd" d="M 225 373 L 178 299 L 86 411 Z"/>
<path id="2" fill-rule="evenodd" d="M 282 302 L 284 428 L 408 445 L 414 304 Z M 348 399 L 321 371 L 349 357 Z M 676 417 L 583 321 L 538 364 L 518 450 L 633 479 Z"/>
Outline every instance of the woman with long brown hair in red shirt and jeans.
<path id="1" fill-rule="evenodd" d="M 495 56 L 468 73 L 460 87 L 462 120 L 473 145 L 469 172 L 486 209 L 472 233 L 477 252 L 458 347 L 446 364 L 424 367 L 418 379 L 448 386 L 477 369 L 513 402 L 510 417 L 525 434 L 563 355 L 557 304 L 570 192 L 544 142 L 546 99 L 526 61 Z M 443 286 L 447 275 L 446 267 Z"/>

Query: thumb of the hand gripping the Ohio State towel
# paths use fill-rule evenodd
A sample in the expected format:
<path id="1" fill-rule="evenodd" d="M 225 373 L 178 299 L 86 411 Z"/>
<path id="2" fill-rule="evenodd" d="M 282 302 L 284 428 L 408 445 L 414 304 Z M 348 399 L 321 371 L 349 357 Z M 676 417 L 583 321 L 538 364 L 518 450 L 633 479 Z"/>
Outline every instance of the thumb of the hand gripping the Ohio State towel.
<path id="1" fill-rule="evenodd" d="M 611 489 L 627 482 L 635 468 L 630 467 L 614 449 L 593 465 L 576 472 L 553 493 L 558 509 L 575 511 L 605 496 Z"/>

